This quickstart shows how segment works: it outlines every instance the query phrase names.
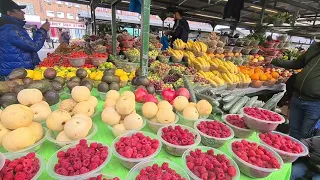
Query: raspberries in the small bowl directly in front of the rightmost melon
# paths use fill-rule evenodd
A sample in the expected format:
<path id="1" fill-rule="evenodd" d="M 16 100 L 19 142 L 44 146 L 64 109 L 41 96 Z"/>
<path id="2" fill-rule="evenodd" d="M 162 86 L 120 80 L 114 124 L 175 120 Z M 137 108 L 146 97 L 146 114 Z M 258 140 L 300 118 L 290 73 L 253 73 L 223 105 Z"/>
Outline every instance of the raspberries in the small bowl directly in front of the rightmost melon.
<path id="1" fill-rule="evenodd" d="M 208 136 L 217 138 L 227 138 L 232 135 L 230 128 L 218 121 L 202 121 L 198 124 L 197 129 Z"/>

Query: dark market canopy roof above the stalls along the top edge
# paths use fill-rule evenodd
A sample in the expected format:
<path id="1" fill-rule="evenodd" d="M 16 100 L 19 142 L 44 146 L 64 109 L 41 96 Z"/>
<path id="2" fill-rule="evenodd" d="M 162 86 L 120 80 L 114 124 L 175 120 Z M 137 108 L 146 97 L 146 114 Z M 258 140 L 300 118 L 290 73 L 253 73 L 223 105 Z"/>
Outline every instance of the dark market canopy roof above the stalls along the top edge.
<path id="1" fill-rule="evenodd" d="M 90 4 L 89 0 L 65 0 L 67 2 Z M 265 2 L 265 3 L 264 3 Z M 224 7 L 227 0 L 152 0 L 151 14 L 162 15 L 173 9 L 180 8 L 186 12 L 186 18 L 191 21 L 204 22 L 212 25 L 232 26 L 235 21 L 223 19 Z M 129 0 L 117 4 L 119 10 L 129 10 Z M 102 2 L 98 7 L 111 7 L 111 1 Z M 286 32 L 289 35 L 314 37 L 319 36 L 320 22 L 317 14 L 320 12 L 318 0 L 244 0 L 244 8 L 240 14 L 237 27 L 253 29 L 260 23 L 261 17 L 288 12 L 296 19 L 294 26 L 286 24 L 279 27 L 269 26 L 270 31 Z M 264 15 L 262 10 L 265 9 Z"/>

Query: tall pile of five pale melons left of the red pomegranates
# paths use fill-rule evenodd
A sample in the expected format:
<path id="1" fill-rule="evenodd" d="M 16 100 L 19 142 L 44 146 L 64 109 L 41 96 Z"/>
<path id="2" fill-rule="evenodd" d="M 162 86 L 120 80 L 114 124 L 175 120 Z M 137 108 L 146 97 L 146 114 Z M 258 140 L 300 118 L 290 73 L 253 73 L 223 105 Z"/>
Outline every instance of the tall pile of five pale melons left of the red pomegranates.
<path id="1" fill-rule="evenodd" d="M 136 113 L 135 95 L 131 91 L 125 91 L 121 95 L 115 90 L 108 91 L 101 119 L 112 127 L 114 136 L 128 130 L 138 130 L 144 125 L 142 117 Z"/>

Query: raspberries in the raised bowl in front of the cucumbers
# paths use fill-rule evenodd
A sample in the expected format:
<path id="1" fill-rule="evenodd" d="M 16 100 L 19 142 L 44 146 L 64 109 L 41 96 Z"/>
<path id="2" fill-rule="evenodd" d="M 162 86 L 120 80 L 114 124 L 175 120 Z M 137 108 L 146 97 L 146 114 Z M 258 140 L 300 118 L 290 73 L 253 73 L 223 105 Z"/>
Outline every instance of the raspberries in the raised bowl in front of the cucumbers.
<path id="1" fill-rule="evenodd" d="M 277 113 L 272 113 L 271 111 L 264 110 L 264 109 L 246 107 L 243 109 L 243 111 L 245 114 L 252 116 L 254 118 L 257 118 L 259 120 L 274 121 L 274 122 L 282 120 L 282 117 Z"/>

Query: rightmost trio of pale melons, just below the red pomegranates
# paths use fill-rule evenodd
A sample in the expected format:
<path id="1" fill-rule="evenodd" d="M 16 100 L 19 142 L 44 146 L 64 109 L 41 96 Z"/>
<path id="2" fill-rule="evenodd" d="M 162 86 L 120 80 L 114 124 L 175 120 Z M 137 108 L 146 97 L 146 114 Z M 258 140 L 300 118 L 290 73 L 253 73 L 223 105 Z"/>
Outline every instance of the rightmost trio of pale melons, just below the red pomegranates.
<path id="1" fill-rule="evenodd" d="M 173 107 L 187 120 L 196 121 L 200 117 L 208 117 L 212 112 L 212 105 L 207 100 L 198 103 L 189 102 L 184 96 L 177 96 L 173 100 Z"/>

